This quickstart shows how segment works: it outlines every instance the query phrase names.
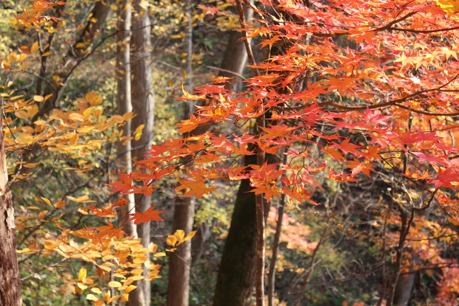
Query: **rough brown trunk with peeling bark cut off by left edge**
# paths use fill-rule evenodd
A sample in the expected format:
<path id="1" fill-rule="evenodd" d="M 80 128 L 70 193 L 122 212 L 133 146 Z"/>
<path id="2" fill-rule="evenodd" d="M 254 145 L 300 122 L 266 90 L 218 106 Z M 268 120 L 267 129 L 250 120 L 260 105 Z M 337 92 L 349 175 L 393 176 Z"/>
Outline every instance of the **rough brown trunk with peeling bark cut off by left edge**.
<path id="1" fill-rule="evenodd" d="M 21 306 L 21 282 L 16 253 L 16 226 L 6 171 L 2 126 L 2 116 L 0 116 L 0 305 Z"/>

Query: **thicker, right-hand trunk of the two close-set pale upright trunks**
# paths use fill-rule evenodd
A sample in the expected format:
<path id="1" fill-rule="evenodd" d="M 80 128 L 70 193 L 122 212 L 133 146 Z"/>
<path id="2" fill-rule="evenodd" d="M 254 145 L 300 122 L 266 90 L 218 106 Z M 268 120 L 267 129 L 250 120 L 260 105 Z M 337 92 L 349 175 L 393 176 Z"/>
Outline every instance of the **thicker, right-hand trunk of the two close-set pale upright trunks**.
<path id="1" fill-rule="evenodd" d="M 151 149 L 153 142 L 154 107 L 153 76 L 151 70 L 151 23 L 147 12 L 140 6 L 141 0 L 134 0 L 132 14 L 131 38 L 131 80 L 132 80 L 132 109 L 136 115 L 132 122 L 132 129 L 144 124 L 142 135 L 138 141 L 132 143 L 132 156 L 142 160 L 143 154 Z M 138 209 L 142 212 L 151 207 L 151 196 L 136 195 Z M 150 243 L 150 223 L 142 223 L 137 227 L 142 245 Z M 144 267 L 144 276 L 148 270 Z M 145 306 L 150 305 L 150 282 L 140 280 L 136 285 L 141 287 L 145 297 Z"/>

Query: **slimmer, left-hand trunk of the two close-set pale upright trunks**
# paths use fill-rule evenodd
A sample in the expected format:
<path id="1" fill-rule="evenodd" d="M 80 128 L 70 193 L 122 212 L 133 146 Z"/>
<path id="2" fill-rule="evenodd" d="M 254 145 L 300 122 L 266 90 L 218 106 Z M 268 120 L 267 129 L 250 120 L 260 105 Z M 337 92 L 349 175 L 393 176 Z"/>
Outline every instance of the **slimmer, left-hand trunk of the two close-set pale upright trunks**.
<path id="1" fill-rule="evenodd" d="M 131 38 L 131 6 L 129 0 L 122 0 L 119 5 L 118 13 L 118 47 L 117 47 L 117 107 L 118 114 L 123 115 L 132 111 L 131 104 L 131 78 L 130 78 L 130 38 Z M 132 134 L 131 122 L 126 122 L 123 126 L 123 135 L 130 136 Z M 132 172 L 132 157 L 131 157 L 131 142 L 117 143 L 117 166 L 118 169 L 125 173 Z M 129 216 L 127 214 L 135 211 L 135 199 L 133 194 L 124 195 L 128 201 L 122 208 L 122 228 L 127 236 L 137 237 L 137 226 L 133 221 L 126 222 Z M 143 290 L 135 289 L 129 293 L 129 301 L 127 305 L 144 306 Z"/>

